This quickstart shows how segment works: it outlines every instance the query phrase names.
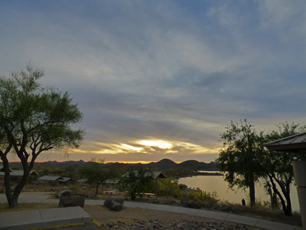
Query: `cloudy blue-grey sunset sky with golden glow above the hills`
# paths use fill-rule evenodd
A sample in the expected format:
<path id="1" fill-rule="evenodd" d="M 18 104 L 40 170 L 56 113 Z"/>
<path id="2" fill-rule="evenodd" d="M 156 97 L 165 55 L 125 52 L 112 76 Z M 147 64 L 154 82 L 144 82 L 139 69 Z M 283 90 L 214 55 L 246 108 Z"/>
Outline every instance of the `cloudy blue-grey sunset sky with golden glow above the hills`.
<path id="1" fill-rule="evenodd" d="M 303 0 L 1 1 L 0 76 L 30 61 L 84 114 L 81 147 L 38 161 L 211 162 L 231 120 L 306 124 L 305 21 Z"/>

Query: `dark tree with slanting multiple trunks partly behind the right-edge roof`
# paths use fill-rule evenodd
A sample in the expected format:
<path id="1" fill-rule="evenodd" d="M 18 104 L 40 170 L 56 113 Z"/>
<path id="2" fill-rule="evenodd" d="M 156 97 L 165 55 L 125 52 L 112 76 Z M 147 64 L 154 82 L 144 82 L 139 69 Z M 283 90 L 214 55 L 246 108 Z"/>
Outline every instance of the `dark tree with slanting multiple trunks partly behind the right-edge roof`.
<path id="1" fill-rule="evenodd" d="M 277 129 L 269 131 L 264 134 L 259 134 L 261 146 L 264 143 L 275 141 L 286 136 L 294 135 L 306 131 L 306 126 L 299 126 L 298 124 L 288 122 L 279 123 L 276 125 Z M 290 199 L 290 185 L 293 182 L 293 160 L 298 160 L 299 155 L 290 152 L 275 152 L 269 151 L 262 146 L 262 151 L 256 155 L 258 164 L 262 169 L 267 182 L 274 194 L 281 200 L 282 208 L 287 216 L 292 215 L 291 199 Z M 276 187 L 279 186 L 281 191 Z"/>

